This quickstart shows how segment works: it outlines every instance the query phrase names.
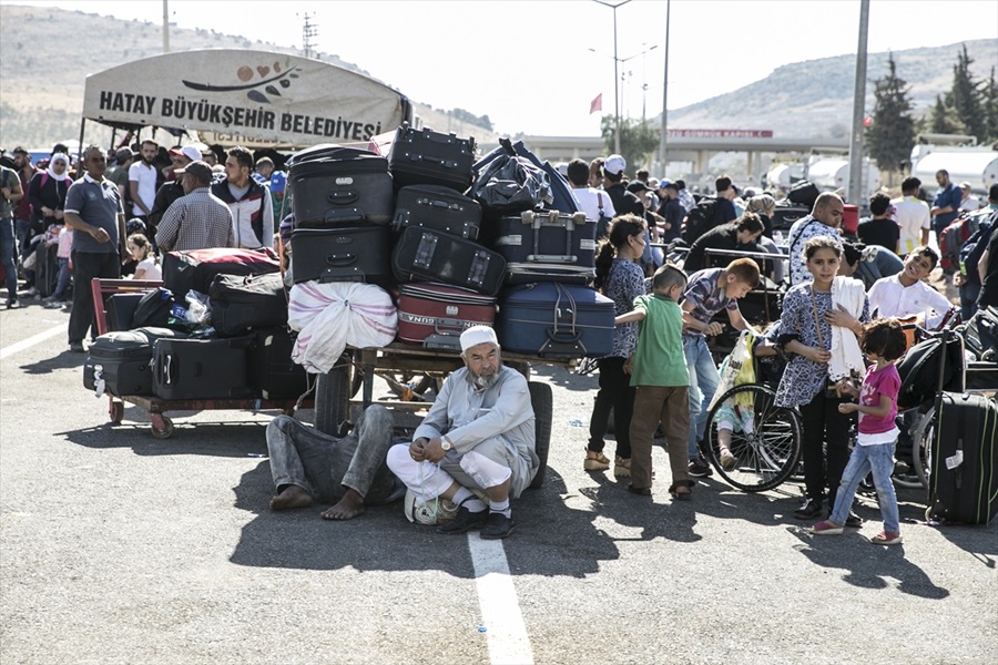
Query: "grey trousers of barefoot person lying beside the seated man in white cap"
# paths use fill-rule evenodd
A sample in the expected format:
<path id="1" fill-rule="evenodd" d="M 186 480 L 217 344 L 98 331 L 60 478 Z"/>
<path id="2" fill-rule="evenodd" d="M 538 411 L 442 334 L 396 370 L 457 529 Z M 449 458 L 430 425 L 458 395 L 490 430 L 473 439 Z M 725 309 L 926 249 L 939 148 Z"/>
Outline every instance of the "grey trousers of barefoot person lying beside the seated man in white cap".
<path id="1" fill-rule="evenodd" d="M 364 497 L 365 505 L 395 501 L 405 494 L 406 485 L 385 462 L 391 429 L 391 413 L 379 405 L 365 409 L 354 430 L 342 439 L 278 416 L 267 426 L 274 485 L 278 492 L 298 485 L 328 503 L 339 501 L 347 489 Z"/>

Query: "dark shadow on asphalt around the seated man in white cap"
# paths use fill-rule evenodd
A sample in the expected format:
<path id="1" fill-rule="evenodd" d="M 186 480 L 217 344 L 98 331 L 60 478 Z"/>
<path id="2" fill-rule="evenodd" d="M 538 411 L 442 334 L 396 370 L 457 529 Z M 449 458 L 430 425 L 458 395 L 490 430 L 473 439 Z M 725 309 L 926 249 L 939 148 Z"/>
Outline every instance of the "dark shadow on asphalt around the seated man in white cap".
<path id="1" fill-rule="evenodd" d="M 442 571 L 473 579 L 467 538 L 440 535 L 432 526 L 410 524 L 401 502 L 367 508 L 346 522 L 323 520 L 326 504 L 271 512 L 274 494 L 269 464 L 243 474 L 235 507 L 255 514 L 231 556 L 238 565 L 301 570 Z M 600 562 L 618 559 L 613 540 L 593 525 L 597 513 L 572 510 L 562 497 L 564 483 L 552 470 L 539 490 L 513 501 L 516 532 L 506 541 L 515 575 L 585 577 Z M 450 555 L 450 554 L 456 555 Z M 457 555 L 459 553 L 459 555 Z"/>

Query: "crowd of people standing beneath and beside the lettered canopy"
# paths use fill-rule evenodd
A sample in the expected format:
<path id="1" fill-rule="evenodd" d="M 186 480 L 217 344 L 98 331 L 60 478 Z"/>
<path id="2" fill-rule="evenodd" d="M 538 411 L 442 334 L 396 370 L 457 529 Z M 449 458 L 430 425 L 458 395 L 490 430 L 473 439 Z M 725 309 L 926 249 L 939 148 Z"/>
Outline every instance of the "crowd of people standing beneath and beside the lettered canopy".
<path id="1" fill-rule="evenodd" d="M 144 140 L 106 154 L 90 146 L 79 161 L 62 144 L 37 164 L 21 146 L 3 154 L 7 309 L 40 298 L 69 310 L 69 347 L 82 352 L 96 336 L 91 279 L 161 279 L 162 253 L 174 249 L 273 246 L 289 202 L 275 165 L 284 158 L 268 152 Z"/>

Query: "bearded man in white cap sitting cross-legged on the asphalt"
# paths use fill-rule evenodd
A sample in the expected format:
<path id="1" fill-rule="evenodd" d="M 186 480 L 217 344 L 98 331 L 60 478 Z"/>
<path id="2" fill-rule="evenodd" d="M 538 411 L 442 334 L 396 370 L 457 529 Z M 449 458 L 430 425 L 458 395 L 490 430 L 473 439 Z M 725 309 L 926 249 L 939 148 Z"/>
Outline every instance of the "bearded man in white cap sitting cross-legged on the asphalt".
<path id="1" fill-rule="evenodd" d="M 523 375 L 503 367 L 495 330 L 472 326 L 460 342 L 465 367 L 444 381 L 413 442 L 388 451 L 388 467 L 417 501 L 459 507 L 439 533 L 480 529 L 483 539 L 501 539 L 515 526 L 510 497 L 527 489 L 540 466 L 530 391 Z M 488 495 L 488 507 L 472 490 Z"/>

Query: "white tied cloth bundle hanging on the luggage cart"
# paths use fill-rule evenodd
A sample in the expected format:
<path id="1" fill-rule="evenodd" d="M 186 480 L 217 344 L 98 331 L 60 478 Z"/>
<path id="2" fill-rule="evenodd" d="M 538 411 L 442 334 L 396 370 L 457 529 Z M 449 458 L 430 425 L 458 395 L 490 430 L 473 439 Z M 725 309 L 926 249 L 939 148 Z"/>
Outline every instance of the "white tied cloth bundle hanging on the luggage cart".
<path id="1" fill-rule="evenodd" d="M 329 371 L 343 350 L 381 348 L 395 339 L 398 314 L 385 289 L 358 282 L 305 282 L 291 290 L 287 325 L 298 331 L 292 360 Z"/>

